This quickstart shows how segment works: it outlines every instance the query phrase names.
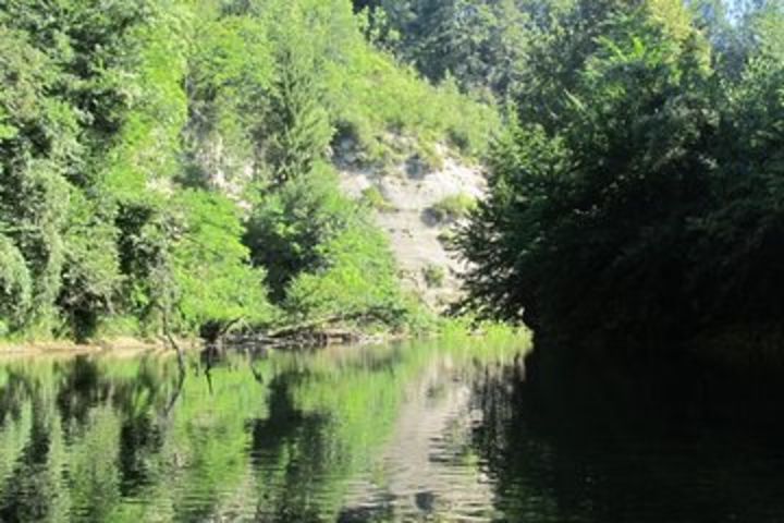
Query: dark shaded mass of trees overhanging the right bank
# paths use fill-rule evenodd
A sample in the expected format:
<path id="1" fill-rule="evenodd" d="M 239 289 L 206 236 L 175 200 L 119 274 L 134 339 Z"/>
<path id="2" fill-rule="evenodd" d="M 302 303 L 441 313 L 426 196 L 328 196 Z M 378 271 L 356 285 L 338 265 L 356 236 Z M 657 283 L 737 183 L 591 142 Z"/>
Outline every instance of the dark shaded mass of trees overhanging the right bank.
<path id="1" fill-rule="evenodd" d="M 624 346 L 780 324 L 784 12 L 709 4 L 580 1 L 531 48 L 460 239 L 473 305 Z"/>

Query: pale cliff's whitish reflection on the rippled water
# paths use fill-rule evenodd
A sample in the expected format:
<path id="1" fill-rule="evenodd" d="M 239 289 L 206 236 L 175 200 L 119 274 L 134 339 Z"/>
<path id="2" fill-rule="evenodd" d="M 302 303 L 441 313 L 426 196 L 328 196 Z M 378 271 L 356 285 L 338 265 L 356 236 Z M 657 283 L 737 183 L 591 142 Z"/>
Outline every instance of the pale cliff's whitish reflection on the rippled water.
<path id="1" fill-rule="evenodd" d="M 413 384 L 394 435 L 373 469 L 352 482 L 340 521 L 477 521 L 491 515 L 492 486 L 469 447 L 470 387 L 449 365 Z"/>

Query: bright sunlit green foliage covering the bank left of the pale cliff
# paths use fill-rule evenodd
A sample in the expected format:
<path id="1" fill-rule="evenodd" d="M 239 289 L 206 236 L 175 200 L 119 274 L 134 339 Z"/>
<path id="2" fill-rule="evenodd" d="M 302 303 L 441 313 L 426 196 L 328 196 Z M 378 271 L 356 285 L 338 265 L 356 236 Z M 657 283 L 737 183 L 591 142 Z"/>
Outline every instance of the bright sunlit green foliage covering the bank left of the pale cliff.
<path id="1" fill-rule="evenodd" d="M 2 2 L 0 336 L 405 314 L 331 146 L 479 155 L 495 113 L 365 27 L 348 0 Z"/>

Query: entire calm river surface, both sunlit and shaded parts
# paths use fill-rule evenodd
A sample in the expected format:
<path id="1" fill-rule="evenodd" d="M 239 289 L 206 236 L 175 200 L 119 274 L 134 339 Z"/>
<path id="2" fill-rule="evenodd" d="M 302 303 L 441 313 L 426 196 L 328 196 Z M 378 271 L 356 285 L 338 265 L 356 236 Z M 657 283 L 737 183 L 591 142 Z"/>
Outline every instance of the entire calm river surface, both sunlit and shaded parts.
<path id="1" fill-rule="evenodd" d="M 784 521 L 777 416 L 524 350 L 7 360 L 0 521 Z"/>

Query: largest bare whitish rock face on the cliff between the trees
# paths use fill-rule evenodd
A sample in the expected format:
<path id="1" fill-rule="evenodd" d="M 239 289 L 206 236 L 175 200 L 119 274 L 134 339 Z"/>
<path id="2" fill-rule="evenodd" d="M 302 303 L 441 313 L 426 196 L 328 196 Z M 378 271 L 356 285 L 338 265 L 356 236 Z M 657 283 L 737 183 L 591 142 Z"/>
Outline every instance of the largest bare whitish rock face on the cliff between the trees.
<path id="1" fill-rule="evenodd" d="M 405 284 L 414 289 L 434 308 L 443 308 L 460 296 L 457 275 L 464 265 L 449 252 L 439 236 L 449 234 L 456 223 L 434 223 L 427 210 L 443 198 L 466 194 L 481 198 L 487 181 L 481 170 L 467 166 L 440 150 L 445 158 L 438 170 L 428 171 L 416 160 L 380 172 L 359 168 L 351 161 L 336 161 L 343 190 L 355 198 L 375 186 L 390 205 L 389 211 L 377 211 L 376 220 L 389 234 Z M 428 287 L 425 271 L 440 267 L 445 280 L 437 288 Z"/>

